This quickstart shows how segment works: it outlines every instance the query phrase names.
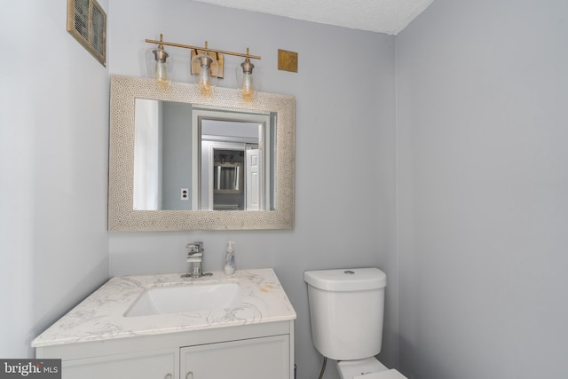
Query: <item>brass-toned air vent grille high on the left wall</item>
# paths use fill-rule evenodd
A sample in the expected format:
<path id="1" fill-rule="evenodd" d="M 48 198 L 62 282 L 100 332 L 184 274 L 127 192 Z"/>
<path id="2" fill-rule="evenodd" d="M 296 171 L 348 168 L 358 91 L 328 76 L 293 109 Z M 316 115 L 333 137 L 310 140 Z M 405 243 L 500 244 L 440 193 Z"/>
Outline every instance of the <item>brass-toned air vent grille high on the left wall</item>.
<path id="1" fill-rule="evenodd" d="M 106 64 L 106 13 L 96 0 L 67 0 L 67 31 Z"/>

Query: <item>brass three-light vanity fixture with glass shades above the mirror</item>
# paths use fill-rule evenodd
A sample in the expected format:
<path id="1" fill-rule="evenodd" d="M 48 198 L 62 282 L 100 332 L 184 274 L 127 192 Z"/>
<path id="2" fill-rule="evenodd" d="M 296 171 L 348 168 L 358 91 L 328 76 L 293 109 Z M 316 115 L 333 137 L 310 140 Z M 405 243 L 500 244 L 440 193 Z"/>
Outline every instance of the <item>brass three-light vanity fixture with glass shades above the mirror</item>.
<path id="1" fill-rule="evenodd" d="M 222 51 L 216 49 L 209 49 L 207 42 L 205 42 L 205 47 L 191 46 L 181 43 L 165 42 L 163 41 L 162 35 L 160 35 L 160 41 L 146 39 L 146 43 L 158 43 L 158 48 L 152 50 L 152 51 L 158 51 L 158 53 L 154 53 L 154 60 L 156 61 L 155 65 L 158 65 L 160 63 L 165 64 L 167 61 L 170 62 L 170 60 L 167 60 L 168 53 L 163 50 L 164 45 L 192 50 L 191 73 L 193 75 L 193 82 L 199 85 L 201 89 L 202 96 L 212 95 L 217 82 L 217 78 L 223 78 L 224 55 L 244 57 L 245 61 L 241 64 L 242 96 L 243 99 L 245 100 L 250 100 L 254 97 L 255 88 L 254 88 L 254 81 L 252 79 L 252 70 L 255 67 L 255 65 L 253 65 L 250 62 L 250 59 L 261 59 L 261 57 L 256 55 L 250 55 L 248 53 L 248 48 L 246 54 L 233 52 L 233 51 Z M 165 53 L 165 56 L 164 54 L 162 54 L 162 51 L 163 53 Z M 153 76 L 154 79 L 159 83 L 159 79 L 155 75 Z"/>

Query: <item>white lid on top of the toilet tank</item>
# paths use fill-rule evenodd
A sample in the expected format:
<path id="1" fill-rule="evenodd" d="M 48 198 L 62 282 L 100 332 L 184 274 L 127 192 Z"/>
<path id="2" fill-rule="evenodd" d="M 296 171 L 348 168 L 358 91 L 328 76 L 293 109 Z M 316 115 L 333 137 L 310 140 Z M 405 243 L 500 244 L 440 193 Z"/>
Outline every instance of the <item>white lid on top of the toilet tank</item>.
<path id="1" fill-rule="evenodd" d="M 328 291 L 360 291 L 387 285 L 386 274 L 378 268 L 306 271 L 304 280 L 312 287 Z"/>

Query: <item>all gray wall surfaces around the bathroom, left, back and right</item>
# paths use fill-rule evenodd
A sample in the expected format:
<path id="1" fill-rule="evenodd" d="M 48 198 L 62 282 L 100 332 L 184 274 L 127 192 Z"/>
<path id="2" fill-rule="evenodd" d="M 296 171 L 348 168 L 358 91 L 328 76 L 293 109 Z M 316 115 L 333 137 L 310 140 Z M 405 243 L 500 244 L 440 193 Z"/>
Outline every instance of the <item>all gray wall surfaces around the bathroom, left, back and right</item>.
<path id="1" fill-rule="evenodd" d="M 182 271 L 185 243 L 202 240 L 218 270 L 233 240 L 237 265 L 274 267 L 296 307 L 300 379 L 320 363 L 302 273 L 356 265 L 389 275 L 382 359 L 397 367 L 399 347 L 410 378 L 568 376 L 568 4 L 437 0 L 395 38 L 187 0 L 99 3 L 108 70 L 67 35 L 65 2 L 0 14 L 17 57 L 1 71 L 0 357 L 31 356 L 109 267 Z M 146 75 L 144 39 L 160 33 L 249 46 L 262 90 L 296 95 L 293 231 L 107 237 L 108 71 Z M 276 70 L 279 48 L 299 52 L 298 74 Z M 186 51 L 171 52 L 187 80 Z M 353 84 L 347 53 L 360 57 Z M 321 164 L 330 146 L 344 159 Z"/>

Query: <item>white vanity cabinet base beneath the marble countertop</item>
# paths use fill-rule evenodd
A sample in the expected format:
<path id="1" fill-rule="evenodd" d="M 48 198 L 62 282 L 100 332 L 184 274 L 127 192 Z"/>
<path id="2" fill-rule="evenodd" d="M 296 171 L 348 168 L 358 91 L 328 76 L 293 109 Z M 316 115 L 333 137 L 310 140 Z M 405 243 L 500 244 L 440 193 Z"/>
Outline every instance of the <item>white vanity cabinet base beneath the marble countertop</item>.
<path id="1" fill-rule="evenodd" d="M 67 343 L 37 348 L 62 359 L 63 379 L 293 379 L 294 321 Z"/>

